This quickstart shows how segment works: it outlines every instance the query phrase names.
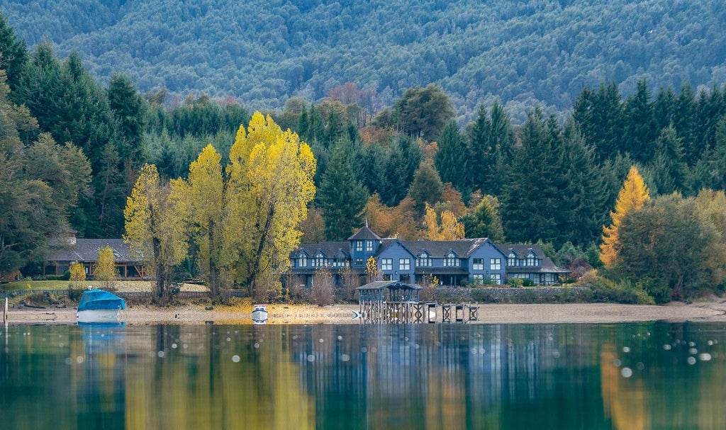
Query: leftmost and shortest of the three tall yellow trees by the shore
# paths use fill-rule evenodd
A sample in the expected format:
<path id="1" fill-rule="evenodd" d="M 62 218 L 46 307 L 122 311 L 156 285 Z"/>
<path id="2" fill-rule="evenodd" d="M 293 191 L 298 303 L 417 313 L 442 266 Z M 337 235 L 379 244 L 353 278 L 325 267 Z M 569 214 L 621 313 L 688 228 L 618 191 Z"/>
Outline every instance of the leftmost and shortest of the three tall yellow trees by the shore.
<path id="1" fill-rule="evenodd" d="M 183 181 L 182 181 L 183 182 Z M 181 204 L 187 202 L 181 183 L 161 183 L 155 165 L 139 171 L 123 210 L 131 255 L 144 262 L 145 275 L 156 278 L 156 297 L 163 298 L 174 281 L 174 266 L 187 256 Z M 176 189 L 176 192 L 173 190 Z"/>

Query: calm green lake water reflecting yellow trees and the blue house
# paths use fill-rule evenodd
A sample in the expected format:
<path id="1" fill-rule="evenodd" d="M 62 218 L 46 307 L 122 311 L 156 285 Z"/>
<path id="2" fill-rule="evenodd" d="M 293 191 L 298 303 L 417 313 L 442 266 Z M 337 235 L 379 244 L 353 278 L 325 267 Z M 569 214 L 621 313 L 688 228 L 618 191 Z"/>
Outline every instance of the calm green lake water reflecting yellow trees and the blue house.
<path id="1" fill-rule="evenodd" d="M 726 429 L 725 323 L 0 327 L 0 429 Z"/>

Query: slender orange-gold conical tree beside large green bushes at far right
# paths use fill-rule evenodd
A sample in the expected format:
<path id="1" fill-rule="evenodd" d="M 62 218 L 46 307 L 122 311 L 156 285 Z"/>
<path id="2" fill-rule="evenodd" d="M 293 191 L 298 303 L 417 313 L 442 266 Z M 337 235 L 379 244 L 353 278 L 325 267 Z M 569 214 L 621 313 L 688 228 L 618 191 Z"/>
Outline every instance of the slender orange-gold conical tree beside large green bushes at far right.
<path id="1" fill-rule="evenodd" d="M 632 166 L 628 172 L 623 188 L 618 193 L 615 211 L 610 212 L 610 226 L 603 226 L 603 243 L 600 244 L 600 261 L 605 268 L 612 268 L 618 260 L 620 239 L 618 229 L 628 212 L 643 209 L 643 204 L 650 199 L 648 187 L 637 168 Z"/>

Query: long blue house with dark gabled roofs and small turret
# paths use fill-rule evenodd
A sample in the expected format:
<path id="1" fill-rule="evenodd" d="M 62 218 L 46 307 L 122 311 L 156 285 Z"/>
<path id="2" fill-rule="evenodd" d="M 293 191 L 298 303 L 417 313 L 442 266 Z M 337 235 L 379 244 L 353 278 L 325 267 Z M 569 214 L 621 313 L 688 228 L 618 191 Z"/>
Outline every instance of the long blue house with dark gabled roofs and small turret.
<path id="1" fill-rule="evenodd" d="M 340 270 L 346 267 L 364 277 L 370 257 L 375 257 L 382 274 L 380 281 L 406 284 L 421 284 L 425 278 L 428 281 L 436 278 L 439 284 L 446 286 L 504 284 L 512 276 L 527 276 L 534 284 L 555 284 L 559 276 L 566 273 L 545 257 L 537 245 L 502 247 L 486 238 L 456 241 L 381 239 L 368 227 L 356 231 L 347 241 L 301 245 L 290 253 L 290 273 L 297 284 L 305 286 L 312 285 L 319 268 L 329 269 L 336 281 L 339 281 Z"/>

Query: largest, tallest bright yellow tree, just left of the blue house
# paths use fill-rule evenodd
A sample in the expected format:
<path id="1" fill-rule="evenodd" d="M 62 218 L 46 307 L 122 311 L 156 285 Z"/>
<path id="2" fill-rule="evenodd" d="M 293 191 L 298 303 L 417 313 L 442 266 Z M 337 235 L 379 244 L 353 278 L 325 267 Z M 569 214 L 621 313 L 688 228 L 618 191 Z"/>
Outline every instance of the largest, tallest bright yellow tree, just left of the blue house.
<path id="1" fill-rule="evenodd" d="M 226 170 L 222 264 L 236 270 L 251 295 L 280 289 L 315 197 L 315 170 L 310 146 L 271 117 L 255 112 L 237 131 Z"/>

